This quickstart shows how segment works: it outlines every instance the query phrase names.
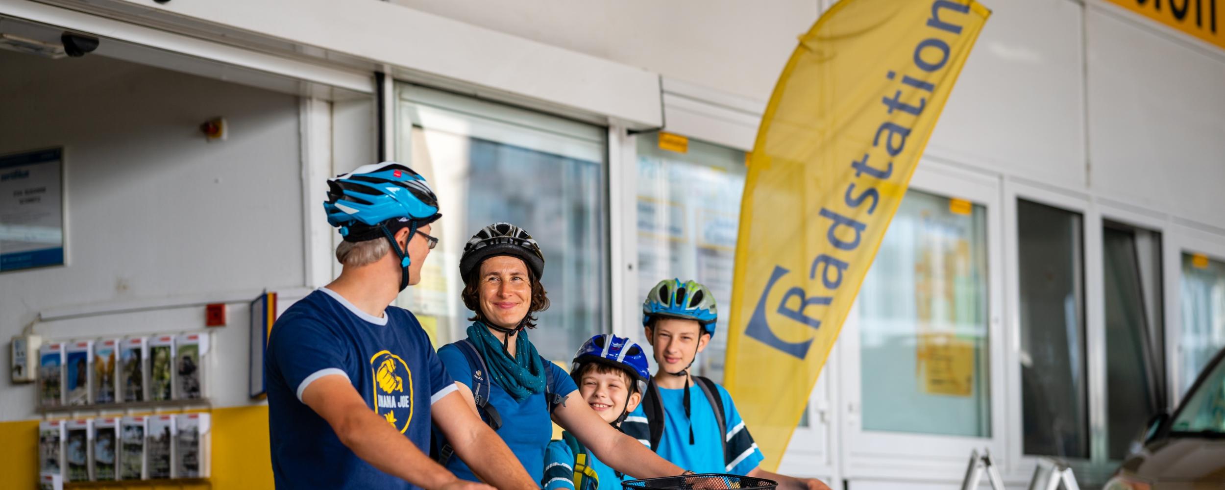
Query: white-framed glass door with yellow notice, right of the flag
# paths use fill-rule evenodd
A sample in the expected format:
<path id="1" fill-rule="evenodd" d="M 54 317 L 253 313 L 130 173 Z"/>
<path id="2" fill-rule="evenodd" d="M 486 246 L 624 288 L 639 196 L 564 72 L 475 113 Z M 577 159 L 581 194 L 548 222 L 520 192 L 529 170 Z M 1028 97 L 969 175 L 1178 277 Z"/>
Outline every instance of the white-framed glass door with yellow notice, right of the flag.
<path id="1" fill-rule="evenodd" d="M 997 181 L 924 162 L 838 343 L 846 478 L 947 479 L 1001 453 Z"/>

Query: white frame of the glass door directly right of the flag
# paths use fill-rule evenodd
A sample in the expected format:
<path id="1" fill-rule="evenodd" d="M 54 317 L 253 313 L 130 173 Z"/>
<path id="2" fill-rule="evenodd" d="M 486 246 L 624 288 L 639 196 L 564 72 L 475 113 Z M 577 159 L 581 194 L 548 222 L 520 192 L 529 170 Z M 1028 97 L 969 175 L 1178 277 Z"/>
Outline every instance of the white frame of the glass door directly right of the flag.
<path id="1" fill-rule="evenodd" d="M 1000 388 L 1005 380 L 1003 317 L 1003 212 L 1000 202 L 998 175 L 967 172 L 958 165 L 925 158 L 910 180 L 909 189 L 940 196 L 964 198 L 981 205 L 987 212 L 987 353 L 990 386 L 990 437 L 942 436 L 865 431 L 860 409 L 862 403 L 859 352 L 859 303 L 851 307 L 838 344 L 842 345 L 842 461 L 846 478 L 856 480 L 954 480 L 965 470 L 965 462 L 974 450 L 987 448 L 992 454 L 1005 452 L 1006 401 Z"/>

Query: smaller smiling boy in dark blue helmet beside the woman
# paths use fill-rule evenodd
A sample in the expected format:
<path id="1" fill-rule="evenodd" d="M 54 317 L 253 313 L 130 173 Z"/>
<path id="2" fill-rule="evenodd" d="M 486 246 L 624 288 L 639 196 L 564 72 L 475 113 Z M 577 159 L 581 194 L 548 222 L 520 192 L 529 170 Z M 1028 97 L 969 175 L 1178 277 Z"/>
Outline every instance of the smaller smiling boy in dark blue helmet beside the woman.
<path id="1" fill-rule="evenodd" d="M 627 338 L 598 334 L 575 354 L 570 376 L 582 401 L 614 428 L 638 407 L 650 377 L 647 354 Z M 627 479 L 595 458 L 570 432 L 545 448 L 544 490 L 620 490 Z"/>

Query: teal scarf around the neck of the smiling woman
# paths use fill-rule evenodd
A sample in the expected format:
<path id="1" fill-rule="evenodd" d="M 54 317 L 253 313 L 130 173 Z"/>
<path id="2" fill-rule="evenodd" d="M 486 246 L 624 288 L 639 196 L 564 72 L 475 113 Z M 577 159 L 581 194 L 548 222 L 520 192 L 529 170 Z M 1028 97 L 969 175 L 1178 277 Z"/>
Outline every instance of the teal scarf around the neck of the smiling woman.
<path id="1" fill-rule="evenodd" d="M 489 332 L 485 323 L 475 322 L 468 326 L 468 341 L 477 347 L 480 358 L 485 360 L 494 382 L 522 402 L 533 393 L 544 391 L 544 361 L 535 345 L 528 341 L 528 332 L 514 334 L 514 358 L 506 352 L 502 342 Z"/>

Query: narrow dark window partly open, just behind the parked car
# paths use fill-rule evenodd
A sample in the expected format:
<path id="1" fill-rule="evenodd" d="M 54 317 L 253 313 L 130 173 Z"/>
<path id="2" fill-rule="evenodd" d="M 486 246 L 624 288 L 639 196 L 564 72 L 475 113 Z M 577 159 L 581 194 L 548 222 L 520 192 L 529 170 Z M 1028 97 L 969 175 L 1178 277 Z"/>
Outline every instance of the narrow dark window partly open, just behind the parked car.
<path id="1" fill-rule="evenodd" d="M 1110 458 L 1122 459 L 1148 420 L 1165 409 L 1161 235 L 1106 223 L 1106 410 Z"/>

